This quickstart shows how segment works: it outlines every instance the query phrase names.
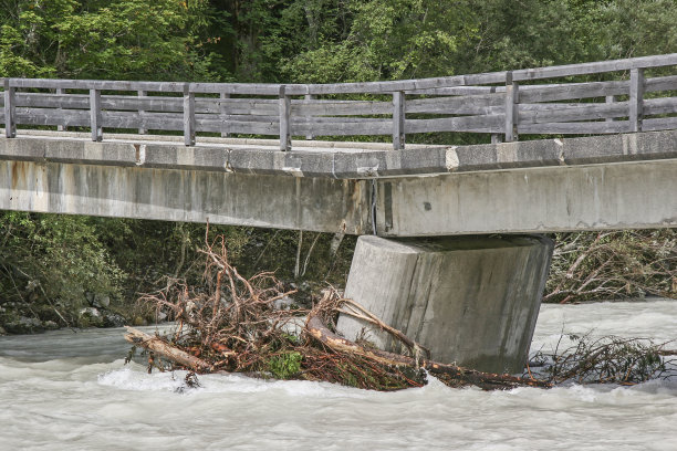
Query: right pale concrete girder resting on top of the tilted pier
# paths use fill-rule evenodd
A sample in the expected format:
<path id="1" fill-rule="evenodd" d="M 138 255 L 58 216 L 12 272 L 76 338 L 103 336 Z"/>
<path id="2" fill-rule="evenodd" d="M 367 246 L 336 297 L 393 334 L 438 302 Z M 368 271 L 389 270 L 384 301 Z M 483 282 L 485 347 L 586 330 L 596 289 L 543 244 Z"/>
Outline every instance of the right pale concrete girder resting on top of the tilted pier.
<path id="1" fill-rule="evenodd" d="M 677 159 L 379 180 L 378 234 L 677 227 Z"/>

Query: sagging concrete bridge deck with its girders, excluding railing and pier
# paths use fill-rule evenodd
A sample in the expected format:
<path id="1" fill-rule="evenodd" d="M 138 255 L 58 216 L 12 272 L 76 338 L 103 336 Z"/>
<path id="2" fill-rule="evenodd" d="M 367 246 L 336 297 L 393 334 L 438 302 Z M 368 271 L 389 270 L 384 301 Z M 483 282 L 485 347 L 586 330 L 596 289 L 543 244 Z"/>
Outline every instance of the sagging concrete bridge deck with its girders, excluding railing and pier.
<path id="1" fill-rule="evenodd" d="M 477 146 L 22 132 L 0 208 L 379 235 L 677 227 L 677 130 Z"/>

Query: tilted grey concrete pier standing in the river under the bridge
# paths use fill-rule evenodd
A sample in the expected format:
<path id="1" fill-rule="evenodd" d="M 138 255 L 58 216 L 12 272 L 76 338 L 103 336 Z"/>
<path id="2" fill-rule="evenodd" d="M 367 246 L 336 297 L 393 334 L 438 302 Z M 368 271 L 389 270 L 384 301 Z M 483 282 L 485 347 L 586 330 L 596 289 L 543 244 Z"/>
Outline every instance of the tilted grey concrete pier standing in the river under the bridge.
<path id="1" fill-rule="evenodd" d="M 553 251 L 538 235 L 357 241 L 345 296 L 428 347 L 438 361 L 521 373 Z M 342 315 L 346 338 L 361 334 L 400 352 L 385 333 Z"/>

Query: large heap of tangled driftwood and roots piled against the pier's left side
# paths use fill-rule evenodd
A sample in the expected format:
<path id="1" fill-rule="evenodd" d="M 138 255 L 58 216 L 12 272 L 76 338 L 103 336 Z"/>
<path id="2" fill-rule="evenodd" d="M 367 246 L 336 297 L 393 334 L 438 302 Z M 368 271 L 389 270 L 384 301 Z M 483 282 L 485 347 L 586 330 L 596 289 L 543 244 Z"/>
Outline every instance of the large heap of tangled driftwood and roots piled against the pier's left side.
<path id="1" fill-rule="evenodd" d="M 451 386 L 548 386 L 531 378 L 485 374 L 425 359 L 424 347 L 355 302 L 341 298 L 335 290 L 327 290 L 311 311 L 275 308 L 277 301 L 293 292 L 284 292 L 272 274 L 241 276 L 228 262 L 222 237 L 202 253 L 205 287 L 191 290 L 171 281 L 165 290 L 143 297 L 169 312 L 177 322 L 176 331 L 164 337 L 129 328 L 126 338 L 153 353 L 153 366 L 165 367 L 155 358 L 162 356 L 170 367 L 196 373 L 238 371 L 377 390 L 420 387 L 426 384 L 425 370 L 440 375 Z M 326 326 L 338 312 L 368 317 L 403 340 L 412 356 L 369 349 L 338 337 Z"/>

